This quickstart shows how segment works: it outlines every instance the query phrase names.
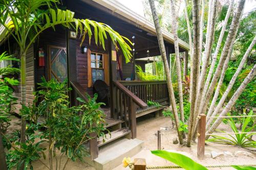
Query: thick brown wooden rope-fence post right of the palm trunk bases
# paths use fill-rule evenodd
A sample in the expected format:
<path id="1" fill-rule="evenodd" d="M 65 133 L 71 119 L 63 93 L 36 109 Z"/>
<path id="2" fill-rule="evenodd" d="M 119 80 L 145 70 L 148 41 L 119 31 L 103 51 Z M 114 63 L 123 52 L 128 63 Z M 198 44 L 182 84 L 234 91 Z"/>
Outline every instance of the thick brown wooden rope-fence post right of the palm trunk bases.
<path id="1" fill-rule="evenodd" d="M 197 157 L 204 159 L 204 148 L 205 148 L 205 124 L 206 115 L 200 114 L 199 129 L 198 129 L 198 142 L 197 142 Z"/>

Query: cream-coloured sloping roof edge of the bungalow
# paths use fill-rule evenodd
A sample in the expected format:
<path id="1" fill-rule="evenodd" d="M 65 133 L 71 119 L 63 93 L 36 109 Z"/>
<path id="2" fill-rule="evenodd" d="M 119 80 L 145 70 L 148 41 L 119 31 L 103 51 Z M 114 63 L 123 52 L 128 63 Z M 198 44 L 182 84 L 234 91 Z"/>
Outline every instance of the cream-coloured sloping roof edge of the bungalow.
<path id="1" fill-rule="evenodd" d="M 82 0 L 83 2 L 88 2 L 88 0 Z M 121 4 L 118 1 L 115 0 L 91 0 L 98 5 L 107 8 L 112 11 L 113 15 L 118 14 L 121 16 L 121 19 L 127 21 L 129 20 L 131 23 L 133 23 L 136 27 L 139 27 L 140 29 L 143 29 L 145 31 L 148 31 L 149 33 L 153 35 L 156 34 L 155 25 L 152 21 L 146 19 L 145 17 L 139 15 L 138 13 L 132 11 L 131 9 L 125 7 L 123 4 Z M 165 41 L 170 42 L 174 44 L 174 35 L 172 33 L 169 33 L 167 30 L 162 29 L 163 38 Z M 189 50 L 189 44 L 185 41 L 178 39 L 179 46 L 181 48 L 184 48 L 184 50 Z"/>

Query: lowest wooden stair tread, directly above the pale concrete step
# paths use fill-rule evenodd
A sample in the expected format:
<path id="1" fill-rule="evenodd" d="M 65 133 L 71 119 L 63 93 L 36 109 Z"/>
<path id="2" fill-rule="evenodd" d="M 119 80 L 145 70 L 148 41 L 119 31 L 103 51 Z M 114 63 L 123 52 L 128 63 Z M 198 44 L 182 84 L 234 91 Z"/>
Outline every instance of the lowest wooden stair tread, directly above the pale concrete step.
<path id="1" fill-rule="evenodd" d="M 116 131 L 111 132 L 110 134 L 106 134 L 106 138 L 104 138 L 103 142 L 103 137 L 98 138 L 98 147 L 101 147 L 102 145 L 109 143 L 113 140 L 116 140 L 122 136 L 125 136 L 127 134 L 131 133 L 131 131 L 128 128 L 121 128 Z"/>

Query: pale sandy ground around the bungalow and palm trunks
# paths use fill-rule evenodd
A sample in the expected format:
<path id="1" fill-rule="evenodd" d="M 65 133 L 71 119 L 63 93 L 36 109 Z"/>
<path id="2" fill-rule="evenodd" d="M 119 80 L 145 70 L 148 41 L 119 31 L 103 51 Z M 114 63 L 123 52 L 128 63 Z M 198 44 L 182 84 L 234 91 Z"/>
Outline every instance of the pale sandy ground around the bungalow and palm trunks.
<path id="1" fill-rule="evenodd" d="M 137 119 L 137 138 L 140 140 L 144 140 L 144 149 L 136 154 L 131 159 L 134 160 L 134 158 L 145 158 L 147 165 L 172 165 L 172 163 L 157 157 L 153 154 L 151 154 L 151 150 L 157 150 L 157 131 L 160 130 L 160 128 L 166 128 L 167 130 L 164 130 L 162 132 L 162 149 L 163 150 L 170 150 L 170 151 L 179 151 L 182 154 L 194 159 L 195 161 L 203 164 L 203 165 L 212 165 L 212 164 L 256 164 L 256 153 L 251 152 L 247 149 L 234 147 L 231 145 L 224 145 L 224 144 L 217 144 L 217 143 L 209 143 L 205 147 L 205 153 L 209 154 L 211 151 L 216 152 L 224 152 L 229 151 L 231 153 L 234 153 L 236 151 L 246 151 L 251 152 L 254 154 L 254 157 L 248 157 L 248 156 L 241 156 L 241 157 L 217 157 L 215 159 L 212 158 L 206 158 L 205 160 L 199 160 L 197 158 L 197 144 L 194 143 L 191 148 L 187 148 L 185 145 L 180 144 L 173 144 L 173 139 L 177 137 L 177 132 L 175 129 L 172 129 L 172 122 L 169 118 L 166 118 L 164 116 L 161 117 L 154 117 L 153 114 L 148 114 L 142 117 L 139 117 Z M 9 128 L 9 131 L 15 131 L 15 129 L 20 127 L 20 119 L 13 116 L 12 117 L 12 125 Z M 228 129 L 228 126 L 221 125 L 219 127 L 221 130 L 230 131 Z M 46 147 L 47 143 L 45 143 Z M 45 152 L 46 154 L 46 160 L 41 158 L 41 161 L 48 164 L 48 152 Z M 61 165 L 66 162 L 67 158 L 63 157 L 61 160 Z M 54 164 L 56 162 L 54 161 Z M 34 161 L 33 162 L 34 169 L 43 170 L 47 169 L 44 164 L 42 164 L 40 161 Z M 69 161 L 69 163 L 66 166 L 66 169 L 68 170 L 95 170 L 94 167 L 88 165 L 85 162 L 81 162 L 77 160 L 76 162 Z M 120 162 L 120 165 L 116 167 L 114 170 L 122 170 L 122 169 L 129 169 L 129 168 L 123 168 L 122 164 Z M 230 167 L 222 167 L 222 168 L 209 168 L 209 169 L 233 169 Z"/>

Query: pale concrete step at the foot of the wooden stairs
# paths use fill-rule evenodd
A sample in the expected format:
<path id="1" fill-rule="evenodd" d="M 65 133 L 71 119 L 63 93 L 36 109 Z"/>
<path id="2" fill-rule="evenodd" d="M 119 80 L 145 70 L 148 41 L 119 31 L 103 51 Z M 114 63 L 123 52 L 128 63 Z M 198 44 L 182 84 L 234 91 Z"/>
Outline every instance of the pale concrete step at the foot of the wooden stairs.
<path id="1" fill-rule="evenodd" d="M 139 139 L 119 138 L 99 148 L 98 158 L 85 160 L 97 170 L 111 170 L 122 163 L 124 157 L 132 157 L 143 149 L 143 141 Z"/>

